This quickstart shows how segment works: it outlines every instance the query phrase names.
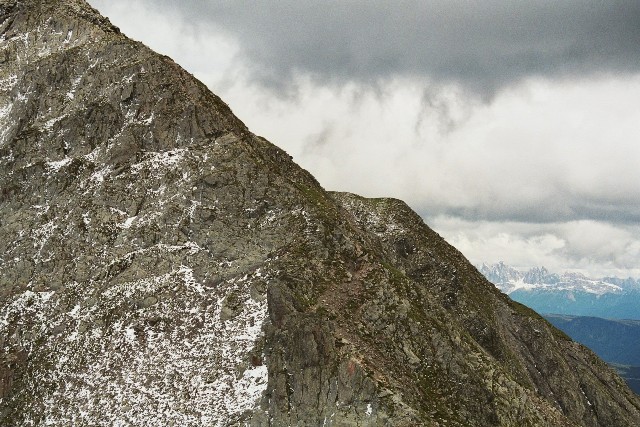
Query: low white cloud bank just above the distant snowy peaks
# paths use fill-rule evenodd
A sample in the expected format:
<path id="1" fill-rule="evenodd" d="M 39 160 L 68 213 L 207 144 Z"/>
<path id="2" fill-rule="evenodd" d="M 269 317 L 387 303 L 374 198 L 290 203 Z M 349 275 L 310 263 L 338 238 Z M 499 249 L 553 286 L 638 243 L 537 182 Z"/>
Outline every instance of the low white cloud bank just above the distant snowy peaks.
<path id="1" fill-rule="evenodd" d="M 546 266 L 593 278 L 640 277 L 640 227 L 597 221 L 494 223 L 440 216 L 431 223 L 476 265 L 508 263 L 520 269 Z"/>

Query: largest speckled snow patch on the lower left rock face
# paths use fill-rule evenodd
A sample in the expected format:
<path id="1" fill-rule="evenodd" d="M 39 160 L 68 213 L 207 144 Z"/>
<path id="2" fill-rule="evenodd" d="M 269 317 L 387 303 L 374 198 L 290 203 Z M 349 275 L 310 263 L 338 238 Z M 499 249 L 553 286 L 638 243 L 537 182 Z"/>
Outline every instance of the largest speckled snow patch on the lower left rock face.
<path id="1" fill-rule="evenodd" d="M 42 425 L 244 424 L 268 381 L 264 355 L 254 350 L 267 302 L 251 291 L 268 277 L 254 271 L 204 293 L 192 268 L 182 265 L 113 284 L 64 313 L 54 292 L 26 291 L 3 308 L 0 332 L 16 318 L 28 318 L 30 333 L 45 343 L 34 356 L 46 354 L 55 369 L 35 369 L 29 380 L 49 390 Z M 177 300 L 167 294 L 174 287 L 183 287 Z M 230 294 L 242 304 L 222 320 Z M 137 315 L 119 317 L 126 301 L 140 301 Z M 113 313 L 113 321 L 96 323 L 105 312 Z M 53 340 L 52 330 L 64 336 Z"/>

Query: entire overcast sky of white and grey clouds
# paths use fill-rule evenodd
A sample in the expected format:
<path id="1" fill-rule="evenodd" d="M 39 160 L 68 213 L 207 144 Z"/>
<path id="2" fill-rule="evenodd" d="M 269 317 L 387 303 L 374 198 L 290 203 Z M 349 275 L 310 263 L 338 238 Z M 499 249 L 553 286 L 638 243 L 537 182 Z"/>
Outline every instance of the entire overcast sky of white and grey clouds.
<path id="1" fill-rule="evenodd" d="M 89 0 L 473 263 L 640 277 L 640 1 Z"/>

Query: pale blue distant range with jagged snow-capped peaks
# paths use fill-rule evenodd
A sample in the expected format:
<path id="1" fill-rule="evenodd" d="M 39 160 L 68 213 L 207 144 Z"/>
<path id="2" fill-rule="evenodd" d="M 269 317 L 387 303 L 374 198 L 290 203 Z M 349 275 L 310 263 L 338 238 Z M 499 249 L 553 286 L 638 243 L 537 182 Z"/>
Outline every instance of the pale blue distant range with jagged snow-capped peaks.
<path id="1" fill-rule="evenodd" d="M 520 271 L 500 262 L 480 272 L 502 292 L 539 313 L 640 320 L 640 280 L 579 273 L 551 273 L 544 267 Z"/>

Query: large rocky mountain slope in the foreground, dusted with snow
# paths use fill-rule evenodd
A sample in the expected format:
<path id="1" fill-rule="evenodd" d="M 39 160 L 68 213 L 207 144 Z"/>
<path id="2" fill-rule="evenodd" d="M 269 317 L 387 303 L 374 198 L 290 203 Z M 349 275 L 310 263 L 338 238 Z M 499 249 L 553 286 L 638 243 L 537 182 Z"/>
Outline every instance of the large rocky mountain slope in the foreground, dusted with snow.
<path id="1" fill-rule="evenodd" d="M 638 426 L 404 203 L 82 0 L 0 0 L 0 425 Z"/>

